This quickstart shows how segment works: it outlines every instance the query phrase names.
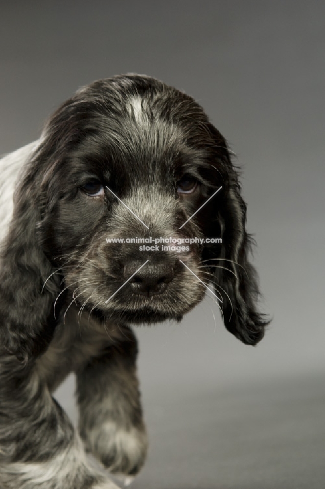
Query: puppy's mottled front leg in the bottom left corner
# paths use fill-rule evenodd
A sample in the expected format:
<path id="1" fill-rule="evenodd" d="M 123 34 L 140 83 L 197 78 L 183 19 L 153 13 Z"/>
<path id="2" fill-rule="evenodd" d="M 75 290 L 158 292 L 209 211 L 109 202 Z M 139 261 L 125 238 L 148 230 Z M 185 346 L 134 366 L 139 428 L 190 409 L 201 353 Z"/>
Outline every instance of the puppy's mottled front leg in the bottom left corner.
<path id="1" fill-rule="evenodd" d="M 0 359 L 0 488 L 118 489 L 30 363 Z"/>

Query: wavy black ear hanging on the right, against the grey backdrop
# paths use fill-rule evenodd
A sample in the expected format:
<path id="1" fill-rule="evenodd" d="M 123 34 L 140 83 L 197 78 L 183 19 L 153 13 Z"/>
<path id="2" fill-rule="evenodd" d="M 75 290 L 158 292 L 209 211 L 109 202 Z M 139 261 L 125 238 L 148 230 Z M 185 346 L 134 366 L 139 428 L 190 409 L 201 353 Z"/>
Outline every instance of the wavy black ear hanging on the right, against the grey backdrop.
<path id="1" fill-rule="evenodd" d="M 217 163 L 223 176 L 223 188 L 215 200 L 215 229 L 222 234 L 220 244 L 210 250 L 214 256 L 206 265 L 214 275 L 216 293 L 222 296 L 222 312 L 228 331 L 248 345 L 256 345 L 270 323 L 266 314 L 258 311 L 257 273 L 249 261 L 255 244 L 246 232 L 246 204 L 240 195 L 239 175 L 232 165 L 230 152 L 223 136 L 209 125 L 217 150 Z M 217 236 L 217 234 L 214 234 Z M 206 255 L 207 256 L 207 255 Z"/>

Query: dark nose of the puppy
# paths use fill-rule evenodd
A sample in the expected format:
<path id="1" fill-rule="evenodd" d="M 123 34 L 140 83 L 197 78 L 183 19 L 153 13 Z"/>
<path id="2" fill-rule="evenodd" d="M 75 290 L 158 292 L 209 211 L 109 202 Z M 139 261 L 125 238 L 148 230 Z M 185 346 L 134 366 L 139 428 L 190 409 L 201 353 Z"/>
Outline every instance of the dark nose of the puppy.
<path id="1" fill-rule="evenodd" d="M 141 265 L 138 261 L 131 261 L 124 266 L 124 278 L 127 280 L 132 277 L 129 280 L 132 291 L 147 297 L 163 293 L 167 284 L 173 280 L 173 267 L 166 263 L 147 263 L 137 271 Z"/>

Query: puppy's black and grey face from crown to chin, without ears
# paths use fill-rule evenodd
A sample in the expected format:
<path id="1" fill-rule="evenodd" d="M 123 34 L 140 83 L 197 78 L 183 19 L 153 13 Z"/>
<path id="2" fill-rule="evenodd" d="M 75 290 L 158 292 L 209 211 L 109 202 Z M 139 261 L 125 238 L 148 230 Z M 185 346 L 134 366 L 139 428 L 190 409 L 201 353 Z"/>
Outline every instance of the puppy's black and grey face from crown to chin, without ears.
<path id="1" fill-rule="evenodd" d="M 165 92 L 147 80 L 138 93 L 138 85 L 132 78 L 113 88 L 97 82 L 67 107 L 74 109 L 78 140 L 64 149 L 46 182 L 52 185 L 50 197 L 59 199 L 43 222 L 43 233 L 47 256 L 63 271 L 79 307 L 152 323 L 181 319 L 203 299 L 206 289 L 198 278 L 209 282 L 202 267 L 204 246 L 176 251 L 155 245 L 143 251 L 126 240 L 202 240 L 206 222 L 214 217 L 209 204 L 180 227 L 222 181 L 210 165 L 213 140 L 202 109 L 176 90 Z M 105 103 L 96 106 L 100 95 Z M 217 223 L 211 232 L 220 236 Z M 107 243 L 108 237 L 124 243 Z"/>

